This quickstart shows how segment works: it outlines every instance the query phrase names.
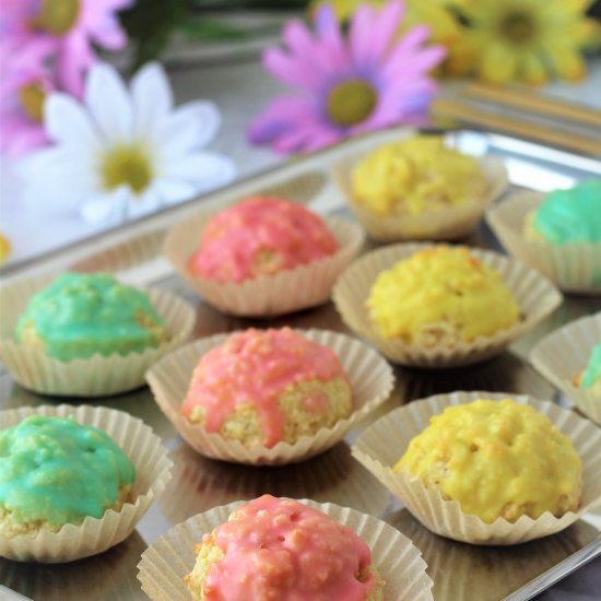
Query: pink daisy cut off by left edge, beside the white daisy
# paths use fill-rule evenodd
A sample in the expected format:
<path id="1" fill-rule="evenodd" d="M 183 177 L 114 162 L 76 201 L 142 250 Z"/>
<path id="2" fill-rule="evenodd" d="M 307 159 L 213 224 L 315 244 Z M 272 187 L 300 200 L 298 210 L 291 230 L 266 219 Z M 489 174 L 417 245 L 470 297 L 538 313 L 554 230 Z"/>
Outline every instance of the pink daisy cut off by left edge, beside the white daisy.
<path id="1" fill-rule="evenodd" d="M 2 40 L 0 54 L 0 153 L 20 156 L 47 143 L 44 101 L 55 90 L 45 67 L 51 44 L 22 47 Z"/>

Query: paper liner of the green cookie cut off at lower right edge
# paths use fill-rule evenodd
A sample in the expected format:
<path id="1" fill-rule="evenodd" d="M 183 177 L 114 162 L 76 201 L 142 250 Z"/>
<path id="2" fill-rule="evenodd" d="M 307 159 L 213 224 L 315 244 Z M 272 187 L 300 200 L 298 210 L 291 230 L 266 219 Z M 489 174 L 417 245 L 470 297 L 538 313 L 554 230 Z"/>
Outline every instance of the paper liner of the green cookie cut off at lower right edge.
<path id="1" fill-rule="evenodd" d="M 541 340 L 532 350 L 532 365 L 574 404 L 601 424 L 601 399 L 575 386 L 574 377 L 587 368 L 593 346 L 601 342 L 601 313 L 571 321 Z"/>

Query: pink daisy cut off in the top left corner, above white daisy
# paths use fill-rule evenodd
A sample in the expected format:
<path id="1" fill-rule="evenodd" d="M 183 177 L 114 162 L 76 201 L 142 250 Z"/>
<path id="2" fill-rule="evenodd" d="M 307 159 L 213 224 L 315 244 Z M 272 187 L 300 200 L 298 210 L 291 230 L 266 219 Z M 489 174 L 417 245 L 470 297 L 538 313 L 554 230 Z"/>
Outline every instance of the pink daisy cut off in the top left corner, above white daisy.
<path id="1" fill-rule="evenodd" d="M 123 48 L 127 37 L 116 13 L 133 0 L 3 0 L 0 35 L 22 45 L 56 43 L 59 85 L 81 96 L 83 75 L 96 62 L 92 43 Z"/>

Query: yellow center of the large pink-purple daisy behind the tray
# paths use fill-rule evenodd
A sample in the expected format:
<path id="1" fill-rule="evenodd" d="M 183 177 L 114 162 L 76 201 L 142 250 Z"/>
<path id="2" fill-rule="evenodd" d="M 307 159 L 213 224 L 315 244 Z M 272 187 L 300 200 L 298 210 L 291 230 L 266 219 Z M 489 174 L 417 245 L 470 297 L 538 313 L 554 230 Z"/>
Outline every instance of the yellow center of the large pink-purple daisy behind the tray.
<path id="1" fill-rule="evenodd" d="M 356 126 L 372 115 L 377 99 L 376 91 L 366 81 L 349 80 L 330 90 L 326 110 L 337 126 Z"/>

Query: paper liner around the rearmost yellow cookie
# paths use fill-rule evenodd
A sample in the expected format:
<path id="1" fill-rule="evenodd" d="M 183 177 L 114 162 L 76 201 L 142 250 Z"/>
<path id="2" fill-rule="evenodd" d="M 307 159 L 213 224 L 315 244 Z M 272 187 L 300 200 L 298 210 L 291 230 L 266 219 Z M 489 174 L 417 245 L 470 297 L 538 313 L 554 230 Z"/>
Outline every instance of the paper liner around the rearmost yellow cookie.
<path id="1" fill-rule="evenodd" d="M 362 156 L 350 156 L 334 165 L 333 177 L 353 212 L 369 236 L 381 241 L 400 240 L 455 240 L 468 235 L 480 221 L 486 208 L 507 188 L 507 169 L 500 158 L 483 156 L 480 168 L 486 179 L 486 190 L 481 198 L 421 215 L 378 215 L 357 202 L 353 192 L 352 172 Z"/>

